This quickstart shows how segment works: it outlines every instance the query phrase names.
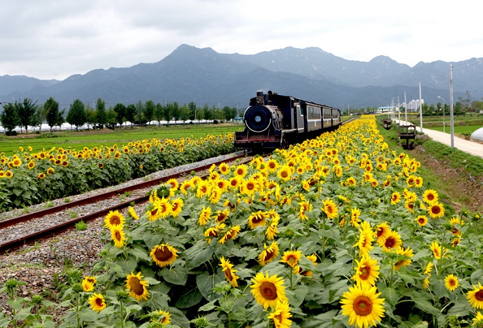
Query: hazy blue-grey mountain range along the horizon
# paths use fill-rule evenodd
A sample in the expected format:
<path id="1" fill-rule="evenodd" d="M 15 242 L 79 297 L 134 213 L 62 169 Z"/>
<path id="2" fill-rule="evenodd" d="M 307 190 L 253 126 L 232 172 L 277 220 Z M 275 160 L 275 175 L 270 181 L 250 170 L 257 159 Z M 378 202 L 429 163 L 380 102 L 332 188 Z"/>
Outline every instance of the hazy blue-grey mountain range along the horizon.
<path id="1" fill-rule="evenodd" d="M 483 97 L 483 58 L 454 62 L 453 100 Z M 220 54 L 211 48 L 180 45 L 156 63 L 130 68 L 92 70 L 63 81 L 28 76 L 0 76 L 0 102 L 30 98 L 44 103 L 52 96 L 67 107 L 75 100 L 106 104 L 177 101 L 197 105 L 246 107 L 259 90 L 273 90 L 346 109 L 378 107 L 394 99 L 420 98 L 449 103 L 450 63 L 417 63 L 413 68 L 379 56 L 371 61 L 350 61 L 320 48 L 284 48 L 258 54 Z M 468 93 L 469 92 L 469 93 Z"/>

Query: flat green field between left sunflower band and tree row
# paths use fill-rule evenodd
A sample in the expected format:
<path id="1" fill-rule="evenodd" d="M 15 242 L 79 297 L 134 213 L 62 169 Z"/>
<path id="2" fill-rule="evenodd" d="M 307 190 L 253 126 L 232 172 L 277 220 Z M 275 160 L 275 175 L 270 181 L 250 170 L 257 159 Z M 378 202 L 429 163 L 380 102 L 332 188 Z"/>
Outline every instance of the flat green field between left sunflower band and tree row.
<path id="1" fill-rule="evenodd" d="M 195 125 L 161 125 L 148 127 L 122 127 L 115 130 L 87 130 L 54 132 L 48 131 L 41 134 L 19 134 L 18 136 L 0 136 L 0 152 L 11 156 L 14 150 L 19 147 L 27 149 L 32 147 L 33 152 L 41 151 L 43 148 L 50 150 L 52 147 L 63 147 L 64 149 L 82 149 L 83 147 L 99 147 L 99 145 L 111 146 L 114 144 L 124 145 L 130 141 L 143 139 L 179 139 L 201 138 L 208 134 L 227 134 L 243 130 L 244 125 L 240 124 L 195 124 Z"/>

